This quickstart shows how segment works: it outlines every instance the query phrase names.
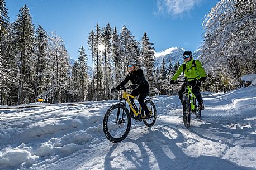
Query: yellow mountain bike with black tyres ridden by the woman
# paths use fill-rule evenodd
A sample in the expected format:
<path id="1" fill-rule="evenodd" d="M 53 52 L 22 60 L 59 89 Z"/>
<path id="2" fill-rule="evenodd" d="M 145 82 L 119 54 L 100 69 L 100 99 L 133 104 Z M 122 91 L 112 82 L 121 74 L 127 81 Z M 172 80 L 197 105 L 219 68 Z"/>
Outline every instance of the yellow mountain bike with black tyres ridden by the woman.
<path id="1" fill-rule="evenodd" d="M 129 87 L 122 86 L 117 90 L 124 90 L 122 94 L 122 99 L 117 104 L 112 105 L 106 112 L 103 119 L 103 132 L 106 135 L 107 139 L 111 142 L 121 142 L 124 140 L 131 128 L 131 119 L 135 119 L 136 122 L 142 121 L 148 127 L 151 127 L 155 124 L 155 120 L 157 119 L 157 109 L 153 101 L 150 98 L 145 99 L 145 104 L 148 106 L 150 119 L 145 119 L 144 110 L 141 106 L 138 107 L 134 103 L 134 101 L 130 100 L 129 97 L 136 99 L 134 96 L 127 93 L 127 89 L 132 89 Z M 138 100 L 138 99 L 136 99 Z M 129 106 L 134 113 L 135 116 L 131 117 L 129 112 Z"/>

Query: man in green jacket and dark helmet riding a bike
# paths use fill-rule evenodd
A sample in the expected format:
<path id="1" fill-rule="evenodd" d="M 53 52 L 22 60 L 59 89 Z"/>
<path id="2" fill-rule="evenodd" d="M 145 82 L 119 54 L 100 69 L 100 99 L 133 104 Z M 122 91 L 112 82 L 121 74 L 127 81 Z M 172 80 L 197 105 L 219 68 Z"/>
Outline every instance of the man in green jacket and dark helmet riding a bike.
<path id="1" fill-rule="evenodd" d="M 193 59 L 191 51 L 185 51 L 183 54 L 183 59 L 184 59 L 183 64 L 179 66 L 178 70 L 170 80 L 170 83 L 174 84 L 175 83 L 174 81 L 179 77 L 179 75 L 181 75 L 182 72 L 184 72 L 185 79 L 188 81 L 191 81 L 189 82 L 189 85 L 193 87 L 192 93 L 196 96 L 199 108 L 203 110 L 205 109 L 205 107 L 203 105 L 203 99 L 200 93 L 200 88 L 201 88 L 201 81 L 206 80 L 205 69 L 203 69 L 203 66 L 199 60 Z M 184 91 L 185 91 L 185 84 L 181 86 L 181 89 L 178 92 L 179 100 L 181 100 L 181 103 L 183 101 Z"/>

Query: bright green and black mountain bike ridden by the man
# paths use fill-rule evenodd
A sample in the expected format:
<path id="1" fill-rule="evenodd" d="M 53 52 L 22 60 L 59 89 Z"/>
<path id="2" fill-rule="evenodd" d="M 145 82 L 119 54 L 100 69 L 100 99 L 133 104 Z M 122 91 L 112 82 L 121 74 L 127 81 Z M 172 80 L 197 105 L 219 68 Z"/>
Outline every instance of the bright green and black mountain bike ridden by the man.
<path id="1" fill-rule="evenodd" d="M 197 80 L 195 80 L 197 81 Z M 176 81 L 176 83 L 185 83 L 185 91 L 183 93 L 183 122 L 186 128 L 190 127 L 191 113 L 195 114 L 197 118 L 201 118 L 201 109 L 199 108 L 196 96 L 192 93 L 193 87 L 189 82 L 193 81 Z"/>

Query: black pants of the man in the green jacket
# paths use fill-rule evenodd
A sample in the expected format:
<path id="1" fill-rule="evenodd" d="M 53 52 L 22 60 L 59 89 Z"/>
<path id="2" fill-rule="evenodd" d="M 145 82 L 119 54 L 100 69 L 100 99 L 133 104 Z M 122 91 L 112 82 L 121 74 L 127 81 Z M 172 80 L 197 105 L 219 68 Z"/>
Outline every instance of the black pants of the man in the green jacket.
<path id="1" fill-rule="evenodd" d="M 203 102 L 202 95 L 200 93 L 200 88 L 201 88 L 201 82 L 200 81 L 193 81 L 190 82 L 189 85 L 192 86 L 192 93 L 196 96 L 196 100 L 198 103 Z M 181 103 L 183 102 L 183 93 L 185 91 L 185 84 L 181 86 L 181 89 L 179 90 L 179 100 L 181 100 Z"/>

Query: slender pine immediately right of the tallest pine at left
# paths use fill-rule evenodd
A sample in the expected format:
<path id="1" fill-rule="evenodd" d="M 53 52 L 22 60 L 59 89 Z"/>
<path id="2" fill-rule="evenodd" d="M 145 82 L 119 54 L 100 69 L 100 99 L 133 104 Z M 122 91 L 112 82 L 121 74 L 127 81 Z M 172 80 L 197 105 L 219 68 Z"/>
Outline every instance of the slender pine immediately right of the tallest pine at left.
<path id="1" fill-rule="evenodd" d="M 46 65 L 48 36 L 44 28 L 40 25 L 36 29 L 35 36 L 35 56 L 36 56 L 36 74 L 35 74 L 35 96 L 42 93 L 42 84 L 44 83 L 44 72 Z"/>

